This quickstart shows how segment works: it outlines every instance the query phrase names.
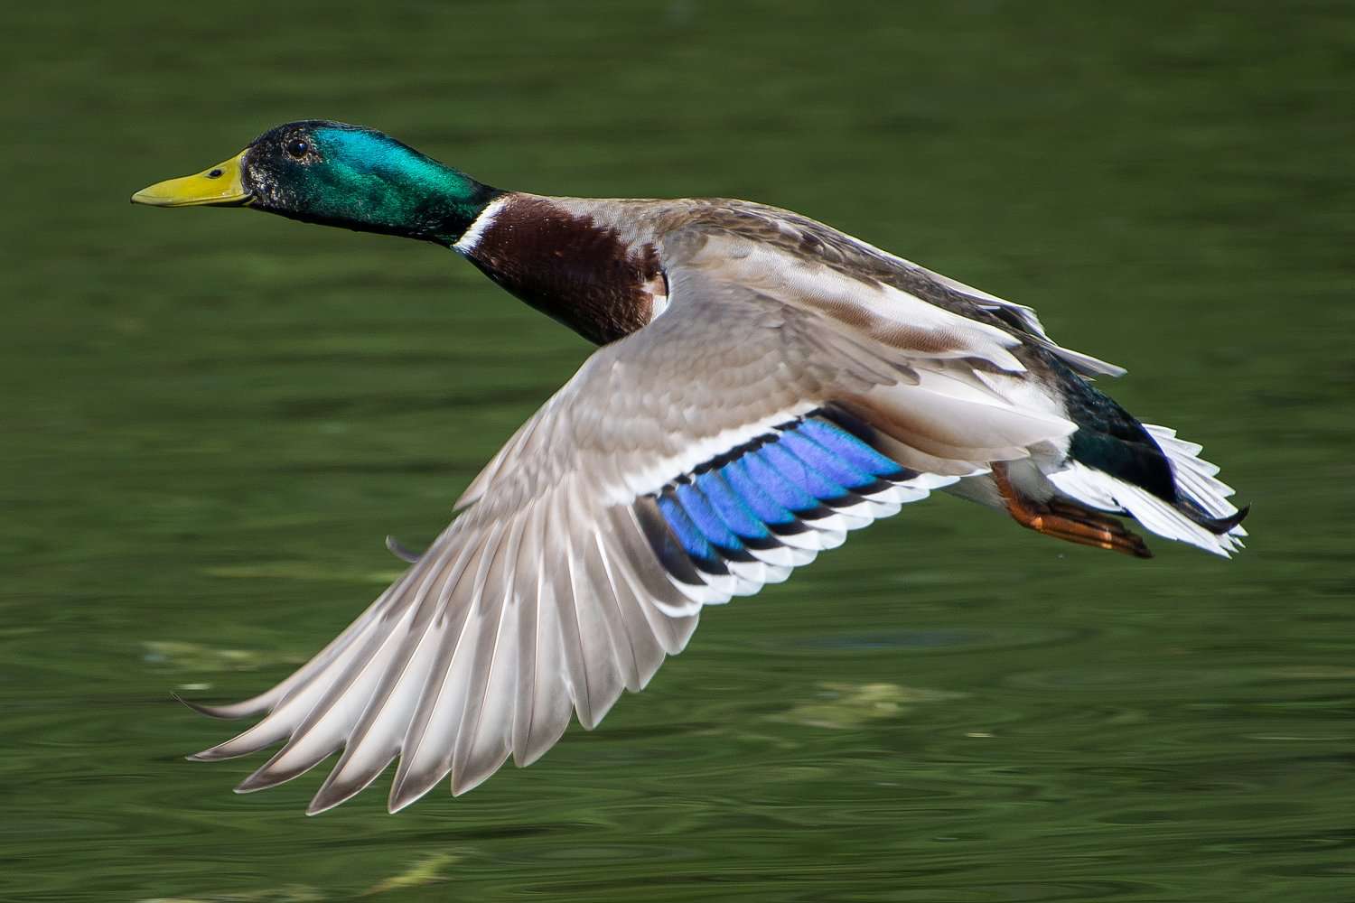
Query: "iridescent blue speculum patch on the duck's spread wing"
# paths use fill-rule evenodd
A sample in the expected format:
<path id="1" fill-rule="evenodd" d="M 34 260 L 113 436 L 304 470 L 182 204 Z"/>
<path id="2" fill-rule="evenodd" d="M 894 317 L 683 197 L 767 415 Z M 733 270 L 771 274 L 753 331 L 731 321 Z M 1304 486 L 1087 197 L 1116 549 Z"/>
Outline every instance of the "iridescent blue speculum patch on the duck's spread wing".
<path id="1" fill-rule="evenodd" d="M 656 501 L 672 539 L 698 563 L 741 559 L 778 529 L 804 529 L 801 517 L 913 475 L 829 417 L 808 414 L 669 483 Z"/>

